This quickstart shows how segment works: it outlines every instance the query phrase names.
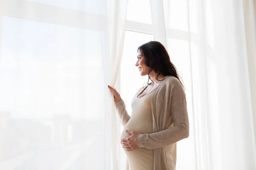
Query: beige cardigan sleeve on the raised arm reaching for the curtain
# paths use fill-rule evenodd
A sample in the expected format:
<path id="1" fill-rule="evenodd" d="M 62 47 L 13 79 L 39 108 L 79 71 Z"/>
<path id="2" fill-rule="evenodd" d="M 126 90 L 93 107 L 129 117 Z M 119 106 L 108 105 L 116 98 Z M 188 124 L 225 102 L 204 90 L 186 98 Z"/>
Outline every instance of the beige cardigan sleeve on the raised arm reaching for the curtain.
<path id="1" fill-rule="evenodd" d="M 121 124 L 124 127 L 131 116 L 127 113 L 127 110 L 125 108 L 125 102 L 121 99 L 119 102 L 115 102 L 115 108 L 119 114 Z"/>

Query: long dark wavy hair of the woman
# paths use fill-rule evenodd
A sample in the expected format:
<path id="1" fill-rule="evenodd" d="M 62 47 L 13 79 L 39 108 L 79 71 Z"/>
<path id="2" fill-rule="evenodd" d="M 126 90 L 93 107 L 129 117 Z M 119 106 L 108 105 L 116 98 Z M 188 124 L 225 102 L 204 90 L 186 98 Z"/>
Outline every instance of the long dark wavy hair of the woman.
<path id="1" fill-rule="evenodd" d="M 150 41 L 138 47 L 137 52 L 139 52 L 144 56 L 145 65 L 148 66 L 150 69 L 148 70 L 148 82 L 149 79 L 152 81 L 149 73 L 154 71 L 157 73 L 157 80 L 160 74 L 164 76 L 173 76 L 176 77 L 180 81 L 180 75 L 177 73 L 177 68 L 174 64 L 172 64 L 171 59 L 169 57 L 166 48 L 157 41 Z M 153 81 L 152 81 L 153 82 Z M 182 87 L 183 83 L 180 81 Z M 152 83 L 148 83 L 151 85 Z"/>

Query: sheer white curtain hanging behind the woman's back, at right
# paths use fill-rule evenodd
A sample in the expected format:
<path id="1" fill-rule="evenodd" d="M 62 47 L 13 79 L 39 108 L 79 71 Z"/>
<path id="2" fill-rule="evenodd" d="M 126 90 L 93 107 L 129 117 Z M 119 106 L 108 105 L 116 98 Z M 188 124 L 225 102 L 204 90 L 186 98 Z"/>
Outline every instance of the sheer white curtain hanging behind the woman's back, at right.
<path id="1" fill-rule="evenodd" d="M 163 4 L 170 57 L 182 73 L 189 101 L 190 136 L 177 144 L 177 169 L 256 169 L 253 0 Z M 172 55 L 177 49 L 169 37 L 189 42 L 179 56 Z"/>

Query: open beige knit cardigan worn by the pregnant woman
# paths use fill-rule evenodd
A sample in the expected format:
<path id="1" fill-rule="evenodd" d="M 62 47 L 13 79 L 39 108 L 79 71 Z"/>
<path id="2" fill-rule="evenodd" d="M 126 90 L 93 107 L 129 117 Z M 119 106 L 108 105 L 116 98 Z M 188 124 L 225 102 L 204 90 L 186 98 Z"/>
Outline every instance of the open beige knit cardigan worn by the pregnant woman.
<path id="1" fill-rule="evenodd" d="M 137 97 L 143 88 L 137 91 Z M 123 100 L 115 103 L 123 126 L 130 116 Z M 153 133 L 139 134 L 138 146 L 154 149 L 154 170 L 176 169 L 176 142 L 189 136 L 186 94 L 176 77 L 167 76 L 153 91 Z"/>

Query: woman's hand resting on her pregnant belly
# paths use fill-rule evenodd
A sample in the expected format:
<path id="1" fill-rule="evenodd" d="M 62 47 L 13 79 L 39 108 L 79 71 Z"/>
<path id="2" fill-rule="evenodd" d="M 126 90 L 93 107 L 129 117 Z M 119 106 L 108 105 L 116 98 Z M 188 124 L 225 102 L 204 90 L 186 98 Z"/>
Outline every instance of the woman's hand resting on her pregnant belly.
<path id="1" fill-rule="evenodd" d="M 140 148 L 138 146 L 138 134 L 135 131 L 126 130 L 126 133 L 131 134 L 131 136 L 127 138 L 121 139 L 122 147 L 126 149 L 126 151 L 131 151 Z"/>

